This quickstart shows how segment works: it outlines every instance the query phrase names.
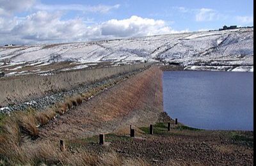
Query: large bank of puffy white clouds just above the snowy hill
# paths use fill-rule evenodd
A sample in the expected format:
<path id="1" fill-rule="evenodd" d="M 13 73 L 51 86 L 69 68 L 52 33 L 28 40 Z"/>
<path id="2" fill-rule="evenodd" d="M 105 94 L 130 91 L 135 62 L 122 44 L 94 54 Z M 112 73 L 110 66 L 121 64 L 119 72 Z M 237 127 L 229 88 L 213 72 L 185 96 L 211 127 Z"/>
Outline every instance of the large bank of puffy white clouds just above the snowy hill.
<path id="1" fill-rule="evenodd" d="M 61 20 L 61 12 L 37 11 L 25 18 L 0 17 L 0 43 L 54 43 L 68 41 L 100 40 L 179 33 L 164 20 L 132 16 L 124 20 L 108 20 L 86 26 L 82 19 Z"/>

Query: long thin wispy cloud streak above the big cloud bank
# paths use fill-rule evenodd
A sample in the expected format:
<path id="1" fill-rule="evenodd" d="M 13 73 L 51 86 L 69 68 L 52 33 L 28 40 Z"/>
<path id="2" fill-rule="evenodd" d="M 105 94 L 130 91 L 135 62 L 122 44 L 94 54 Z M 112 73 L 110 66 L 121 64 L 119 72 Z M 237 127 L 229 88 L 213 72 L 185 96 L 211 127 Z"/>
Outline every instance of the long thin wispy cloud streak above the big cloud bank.
<path id="1" fill-rule="evenodd" d="M 84 11 L 84 12 L 99 12 L 99 13 L 108 13 L 111 10 L 118 9 L 120 4 L 115 4 L 113 6 L 99 4 L 96 6 L 86 6 L 82 4 L 57 4 L 57 5 L 47 5 L 47 4 L 36 4 L 36 10 L 47 10 L 47 11 L 60 11 L 60 10 L 75 10 L 75 11 Z"/>

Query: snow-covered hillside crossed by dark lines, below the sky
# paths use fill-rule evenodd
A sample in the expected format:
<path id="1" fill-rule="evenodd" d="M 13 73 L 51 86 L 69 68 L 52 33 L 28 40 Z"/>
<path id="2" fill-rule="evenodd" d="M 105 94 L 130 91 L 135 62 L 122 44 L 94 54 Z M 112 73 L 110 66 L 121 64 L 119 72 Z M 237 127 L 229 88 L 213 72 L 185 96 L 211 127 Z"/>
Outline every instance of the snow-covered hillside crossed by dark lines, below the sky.
<path id="1" fill-rule="evenodd" d="M 0 47 L 0 72 L 15 73 L 24 66 L 44 66 L 53 61 L 79 65 L 72 69 L 86 68 L 88 63 L 162 61 L 183 64 L 188 70 L 253 72 L 253 28 Z"/>

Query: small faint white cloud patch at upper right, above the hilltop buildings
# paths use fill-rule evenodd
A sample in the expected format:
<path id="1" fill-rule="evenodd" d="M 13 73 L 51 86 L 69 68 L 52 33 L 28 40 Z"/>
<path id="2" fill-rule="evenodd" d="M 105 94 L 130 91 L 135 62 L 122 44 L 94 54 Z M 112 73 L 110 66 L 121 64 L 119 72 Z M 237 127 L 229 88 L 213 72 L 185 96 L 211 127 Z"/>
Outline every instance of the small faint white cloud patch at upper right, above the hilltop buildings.
<path id="1" fill-rule="evenodd" d="M 217 13 L 217 11 L 209 9 L 209 8 L 201 8 L 196 13 L 196 21 L 212 21 L 212 20 L 218 20 L 220 18 L 220 15 Z"/>

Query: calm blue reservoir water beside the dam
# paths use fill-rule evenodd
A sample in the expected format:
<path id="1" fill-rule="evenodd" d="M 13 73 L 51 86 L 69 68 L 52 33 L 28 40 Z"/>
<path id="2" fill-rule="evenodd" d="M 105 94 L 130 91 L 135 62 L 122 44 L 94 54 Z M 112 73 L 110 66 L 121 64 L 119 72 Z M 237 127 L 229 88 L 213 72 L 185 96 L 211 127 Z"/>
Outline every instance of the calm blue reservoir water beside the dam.
<path id="1" fill-rule="evenodd" d="M 164 72 L 163 105 L 191 127 L 253 130 L 253 73 Z"/>

